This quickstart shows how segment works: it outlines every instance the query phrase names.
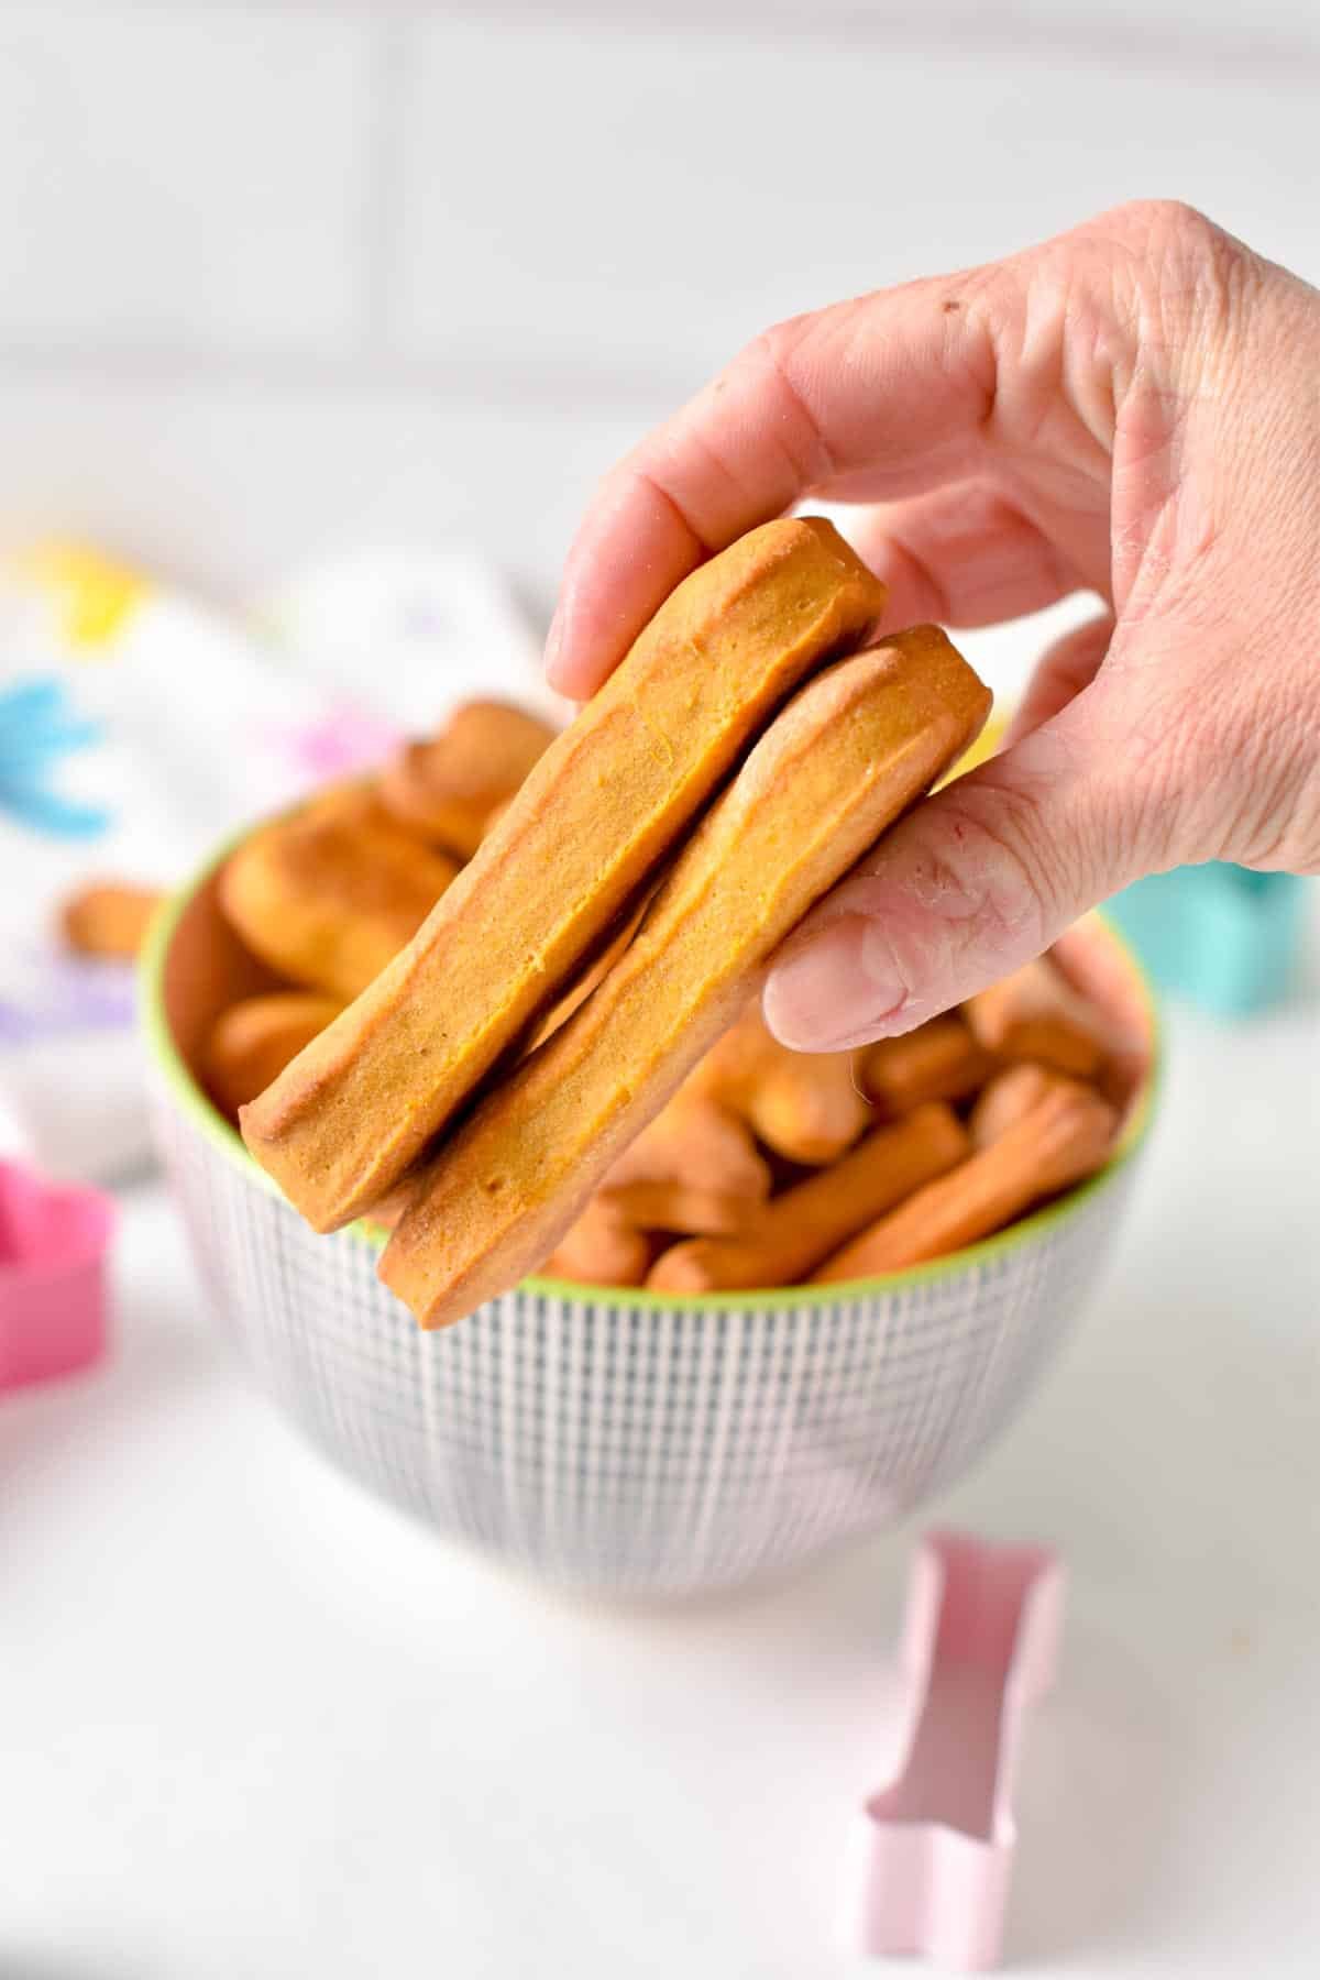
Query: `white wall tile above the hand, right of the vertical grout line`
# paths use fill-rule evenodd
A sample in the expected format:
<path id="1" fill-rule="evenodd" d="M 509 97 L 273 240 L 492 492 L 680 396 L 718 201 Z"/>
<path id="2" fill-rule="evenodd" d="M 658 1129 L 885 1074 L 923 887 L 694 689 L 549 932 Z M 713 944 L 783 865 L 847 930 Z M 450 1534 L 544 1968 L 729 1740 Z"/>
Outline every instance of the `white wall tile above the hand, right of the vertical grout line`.
<path id="1" fill-rule="evenodd" d="M 1255 77 L 639 30 L 564 61 L 560 28 L 431 20 L 404 95 L 396 337 L 691 380 L 778 317 L 1142 192 L 1318 269 L 1296 198 L 1316 123 L 1314 93 Z"/>

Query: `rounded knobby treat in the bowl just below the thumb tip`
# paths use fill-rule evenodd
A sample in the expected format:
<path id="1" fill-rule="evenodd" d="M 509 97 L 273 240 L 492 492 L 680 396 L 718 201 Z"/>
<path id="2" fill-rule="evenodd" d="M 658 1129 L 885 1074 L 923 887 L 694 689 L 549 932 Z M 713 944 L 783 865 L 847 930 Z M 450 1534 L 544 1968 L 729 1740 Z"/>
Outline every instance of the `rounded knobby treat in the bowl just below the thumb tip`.
<path id="1" fill-rule="evenodd" d="M 770 1034 L 756 998 L 707 1053 L 693 1085 L 790 1162 L 831 1162 L 873 1119 L 853 1085 L 853 1053 L 790 1051 Z"/>

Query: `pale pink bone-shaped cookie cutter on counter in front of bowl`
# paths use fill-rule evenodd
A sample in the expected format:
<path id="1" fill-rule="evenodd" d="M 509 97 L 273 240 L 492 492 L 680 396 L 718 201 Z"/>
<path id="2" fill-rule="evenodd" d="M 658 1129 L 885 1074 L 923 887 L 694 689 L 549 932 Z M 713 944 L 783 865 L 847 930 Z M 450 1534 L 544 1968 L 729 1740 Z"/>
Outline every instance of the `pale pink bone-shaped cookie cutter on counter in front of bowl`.
<path id="1" fill-rule="evenodd" d="M 851 1950 L 918 1952 L 958 1972 L 997 1964 L 1017 1754 L 1061 1634 L 1063 1568 L 1051 1552 L 958 1533 L 922 1540 L 902 1630 L 902 1758 L 849 1835 Z"/>

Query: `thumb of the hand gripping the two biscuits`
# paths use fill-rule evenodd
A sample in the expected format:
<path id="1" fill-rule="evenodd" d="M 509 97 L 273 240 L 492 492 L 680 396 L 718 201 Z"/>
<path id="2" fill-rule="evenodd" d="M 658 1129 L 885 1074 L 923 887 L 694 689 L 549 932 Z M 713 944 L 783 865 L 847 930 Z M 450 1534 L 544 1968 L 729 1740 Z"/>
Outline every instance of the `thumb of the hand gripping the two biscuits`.
<path id="1" fill-rule="evenodd" d="M 807 917 L 764 992 L 798 1051 L 910 1032 L 1166 861 L 1100 685 L 918 804 Z M 1138 772 L 1140 778 L 1140 772 Z"/>

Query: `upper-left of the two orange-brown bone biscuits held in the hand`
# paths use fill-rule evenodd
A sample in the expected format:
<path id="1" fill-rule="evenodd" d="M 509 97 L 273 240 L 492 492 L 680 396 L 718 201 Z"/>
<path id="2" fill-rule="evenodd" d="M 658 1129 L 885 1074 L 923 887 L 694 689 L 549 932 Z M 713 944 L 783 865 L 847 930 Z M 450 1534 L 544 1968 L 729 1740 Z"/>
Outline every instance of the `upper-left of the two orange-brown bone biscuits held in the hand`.
<path id="1" fill-rule="evenodd" d="M 370 1210 L 422 1156 L 883 598 L 815 519 L 752 531 L 673 592 L 418 939 L 245 1109 L 247 1146 L 309 1224 Z"/>

